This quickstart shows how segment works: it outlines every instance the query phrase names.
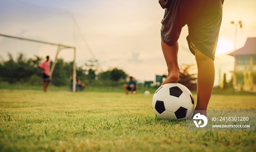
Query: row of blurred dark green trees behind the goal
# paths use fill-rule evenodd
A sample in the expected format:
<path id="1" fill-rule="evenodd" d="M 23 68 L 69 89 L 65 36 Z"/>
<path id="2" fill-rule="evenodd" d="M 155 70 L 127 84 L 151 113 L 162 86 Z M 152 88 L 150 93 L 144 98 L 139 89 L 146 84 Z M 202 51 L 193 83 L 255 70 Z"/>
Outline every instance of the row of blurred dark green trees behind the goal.
<path id="1" fill-rule="evenodd" d="M 44 58 L 35 56 L 34 58 L 26 59 L 22 53 L 19 54 L 16 60 L 13 59 L 10 53 L 8 57 L 9 60 L 1 61 L 0 63 L 0 81 L 29 83 L 31 85 L 42 84 L 42 69 L 38 68 L 38 64 L 44 62 Z M 63 59 L 59 59 L 52 73 L 52 84 L 55 86 L 69 85 L 72 73 L 73 62 L 65 62 Z M 89 69 L 86 75 L 82 67 L 77 67 L 76 75 L 82 83 L 88 85 L 115 86 L 120 83 L 126 83 L 127 79 L 127 74 L 118 68 L 109 69 L 98 75 L 95 74 L 95 70 Z"/>

